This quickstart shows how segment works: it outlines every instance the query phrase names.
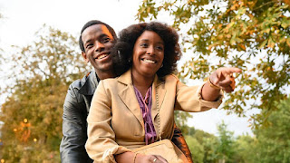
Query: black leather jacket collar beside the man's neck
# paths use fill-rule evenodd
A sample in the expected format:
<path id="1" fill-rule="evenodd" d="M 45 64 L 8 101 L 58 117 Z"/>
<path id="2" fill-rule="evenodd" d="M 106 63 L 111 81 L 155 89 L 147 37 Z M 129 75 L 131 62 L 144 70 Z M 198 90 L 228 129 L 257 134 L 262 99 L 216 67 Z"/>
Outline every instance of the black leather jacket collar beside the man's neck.
<path id="1" fill-rule="evenodd" d="M 86 76 L 82 78 L 79 93 L 83 95 L 93 95 L 94 91 L 98 86 L 98 81 L 100 80 L 98 80 L 96 72 L 89 72 Z"/>

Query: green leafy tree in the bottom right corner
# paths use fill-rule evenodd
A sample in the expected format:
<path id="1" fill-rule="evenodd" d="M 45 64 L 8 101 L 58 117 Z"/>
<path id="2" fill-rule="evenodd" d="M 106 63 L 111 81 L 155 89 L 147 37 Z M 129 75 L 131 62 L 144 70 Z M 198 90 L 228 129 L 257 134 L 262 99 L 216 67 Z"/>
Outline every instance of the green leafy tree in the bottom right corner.
<path id="1" fill-rule="evenodd" d="M 290 162 L 290 99 L 276 102 L 267 128 L 255 129 L 254 162 Z"/>

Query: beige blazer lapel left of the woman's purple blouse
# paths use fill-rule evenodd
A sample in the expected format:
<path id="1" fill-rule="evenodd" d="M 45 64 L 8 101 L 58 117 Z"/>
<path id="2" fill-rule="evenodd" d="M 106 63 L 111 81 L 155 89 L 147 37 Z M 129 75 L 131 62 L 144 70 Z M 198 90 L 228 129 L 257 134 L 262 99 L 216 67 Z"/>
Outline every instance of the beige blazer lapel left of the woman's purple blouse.
<path id="1" fill-rule="evenodd" d="M 133 84 L 131 81 L 131 70 L 125 72 L 118 79 L 118 82 L 121 82 L 121 91 L 119 91 L 118 95 L 121 98 L 121 101 L 126 105 L 126 107 L 131 110 L 137 120 L 139 120 L 140 125 L 144 129 L 144 121 L 142 118 L 141 110 L 139 103 L 136 99 L 135 91 L 133 88 Z"/>

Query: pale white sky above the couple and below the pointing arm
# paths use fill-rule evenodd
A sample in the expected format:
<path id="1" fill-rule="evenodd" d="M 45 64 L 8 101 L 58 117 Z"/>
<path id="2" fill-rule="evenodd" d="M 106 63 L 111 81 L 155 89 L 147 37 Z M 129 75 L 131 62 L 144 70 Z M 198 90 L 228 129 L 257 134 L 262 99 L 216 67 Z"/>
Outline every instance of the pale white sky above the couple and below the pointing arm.
<path id="1" fill-rule="evenodd" d="M 11 50 L 11 45 L 32 43 L 35 32 L 43 24 L 77 37 L 83 24 L 97 19 L 110 24 L 119 33 L 130 24 L 138 23 L 135 15 L 140 4 L 141 0 L 0 0 L 0 13 L 4 16 L 0 19 L 0 47 L 7 52 Z M 166 15 L 159 21 L 169 23 Z M 0 79 L 0 82 L 3 81 Z M 5 96 L 0 95 L 0 103 L 3 101 Z M 247 118 L 227 115 L 225 110 L 213 109 L 191 114 L 193 118 L 188 125 L 196 129 L 217 135 L 217 125 L 223 120 L 235 136 L 252 134 Z"/>

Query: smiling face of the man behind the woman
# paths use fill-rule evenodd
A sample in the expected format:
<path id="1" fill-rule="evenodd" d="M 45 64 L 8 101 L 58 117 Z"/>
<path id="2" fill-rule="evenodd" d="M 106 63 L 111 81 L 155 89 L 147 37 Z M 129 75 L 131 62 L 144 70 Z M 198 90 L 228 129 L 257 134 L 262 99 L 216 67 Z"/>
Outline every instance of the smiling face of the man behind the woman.
<path id="1" fill-rule="evenodd" d="M 96 72 L 112 71 L 111 48 L 115 40 L 108 28 L 103 24 L 94 24 L 82 32 L 86 62 L 91 62 Z"/>

